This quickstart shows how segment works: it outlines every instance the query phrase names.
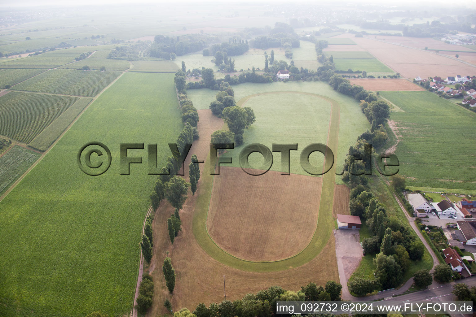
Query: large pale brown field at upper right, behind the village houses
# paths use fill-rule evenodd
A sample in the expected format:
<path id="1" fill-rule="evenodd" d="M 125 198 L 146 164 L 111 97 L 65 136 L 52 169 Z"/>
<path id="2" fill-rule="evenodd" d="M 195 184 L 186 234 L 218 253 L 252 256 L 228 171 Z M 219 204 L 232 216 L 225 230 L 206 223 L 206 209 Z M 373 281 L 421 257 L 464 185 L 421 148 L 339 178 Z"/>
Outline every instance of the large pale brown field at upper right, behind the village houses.
<path id="1" fill-rule="evenodd" d="M 453 74 L 476 73 L 476 67 L 438 55 L 434 51 L 408 48 L 389 43 L 389 39 L 387 38 L 390 37 L 380 36 L 382 40 L 374 39 L 375 36 L 354 38 L 352 34 L 341 34 L 337 35 L 337 37 L 352 38 L 358 47 L 367 50 L 388 67 L 400 73 L 402 77 L 446 77 L 449 74 L 453 76 Z M 383 39 L 385 39 L 385 41 L 383 41 Z"/>

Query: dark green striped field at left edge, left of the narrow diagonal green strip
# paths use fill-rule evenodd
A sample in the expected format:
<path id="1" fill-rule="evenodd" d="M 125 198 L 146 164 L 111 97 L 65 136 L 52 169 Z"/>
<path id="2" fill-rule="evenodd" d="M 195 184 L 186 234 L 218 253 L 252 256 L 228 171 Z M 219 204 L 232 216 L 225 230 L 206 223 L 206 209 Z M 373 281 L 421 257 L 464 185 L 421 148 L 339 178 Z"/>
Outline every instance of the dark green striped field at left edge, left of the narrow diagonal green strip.
<path id="1" fill-rule="evenodd" d="M 0 96 L 0 134 L 29 143 L 78 99 L 10 91 Z"/>

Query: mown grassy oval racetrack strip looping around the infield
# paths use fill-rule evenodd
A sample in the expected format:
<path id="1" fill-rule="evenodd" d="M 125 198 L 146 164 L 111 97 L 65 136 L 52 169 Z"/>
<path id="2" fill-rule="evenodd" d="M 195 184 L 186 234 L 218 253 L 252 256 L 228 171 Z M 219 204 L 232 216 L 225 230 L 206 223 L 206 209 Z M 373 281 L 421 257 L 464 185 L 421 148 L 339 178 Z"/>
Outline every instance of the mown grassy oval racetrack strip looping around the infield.
<path id="1" fill-rule="evenodd" d="M 300 91 L 279 91 L 279 92 L 265 92 L 258 93 L 254 95 L 249 95 L 241 98 L 238 101 L 238 106 L 242 106 L 246 101 L 254 96 L 267 95 L 267 94 L 305 94 L 309 96 L 317 96 L 323 100 L 329 102 L 331 106 L 331 117 L 329 120 L 328 133 L 327 133 L 327 145 L 332 144 L 334 149 L 337 149 L 337 140 L 338 140 L 338 127 L 339 127 L 339 116 L 340 108 L 339 104 L 326 96 L 321 96 L 313 93 L 300 92 Z M 331 133 L 333 132 L 333 133 Z M 334 162 L 335 163 L 335 162 Z M 210 162 L 207 158 L 203 171 L 209 171 Z M 208 208 L 211 199 L 211 193 L 213 188 L 213 175 L 208 173 L 203 173 L 203 183 L 202 186 L 205 186 L 205 192 L 208 194 L 198 196 L 197 198 L 197 207 L 193 215 L 192 221 L 192 231 L 195 237 L 195 240 L 198 242 L 200 247 L 205 250 L 209 256 L 216 259 L 220 263 L 227 265 L 229 267 L 252 271 L 252 272 L 269 272 L 269 271 L 279 271 L 285 269 L 296 268 L 301 265 L 306 264 L 310 260 L 314 259 L 319 253 L 324 249 L 327 241 L 329 240 L 332 230 L 334 229 L 334 220 L 332 218 L 332 208 L 333 208 L 333 199 L 334 199 L 334 186 L 335 186 L 335 164 L 332 166 L 331 170 L 324 174 L 323 182 L 321 187 L 321 198 L 318 206 L 319 214 L 317 219 L 316 230 L 307 244 L 306 248 L 301 250 L 299 253 L 295 254 L 292 257 L 286 259 L 279 259 L 276 261 L 251 261 L 245 259 L 239 259 L 236 256 L 229 254 L 228 252 L 222 250 L 216 242 L 210 237 L 207 229 L 207 220 L 208 220 Z M 205 227 L 205 228 L 204 228 Z M 205 230 L 204 230 L 205 229 Z"/>

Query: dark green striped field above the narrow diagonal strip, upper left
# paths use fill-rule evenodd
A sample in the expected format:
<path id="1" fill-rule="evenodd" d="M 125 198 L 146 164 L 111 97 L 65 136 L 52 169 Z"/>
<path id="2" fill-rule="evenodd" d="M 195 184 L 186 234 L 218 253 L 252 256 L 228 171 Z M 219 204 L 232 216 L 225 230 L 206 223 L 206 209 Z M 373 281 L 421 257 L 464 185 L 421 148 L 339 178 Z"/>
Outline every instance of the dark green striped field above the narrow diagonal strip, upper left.
<path id="1" fill-rule="evenodd" d="M 13 89 L 94 97 L 120 74 L 115 71 L 51 69 L 14 86 Z"/>

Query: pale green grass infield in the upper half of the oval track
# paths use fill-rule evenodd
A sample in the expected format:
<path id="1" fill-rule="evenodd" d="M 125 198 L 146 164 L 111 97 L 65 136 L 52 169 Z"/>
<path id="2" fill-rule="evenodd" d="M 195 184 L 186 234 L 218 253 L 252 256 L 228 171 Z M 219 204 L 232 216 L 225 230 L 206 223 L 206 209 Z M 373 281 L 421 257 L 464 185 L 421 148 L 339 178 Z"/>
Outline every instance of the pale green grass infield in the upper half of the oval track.
<path id="1" fill-rule="evenodd" d="M 309 175 L 299 163 L 299 154 L 311 143 L 326 144 L 331 111 L 329 102 L 301 92 L 267 93 L 240 102 L 240 106 L 253 109 L 256 122 L 245 130 L 243 145 L 222 155 L 233 157 L 233 164 L 229 166 L 240 166 L 238 153 L 248 144 L 260 143 L 271 149 L 273 143 L 297 143 L 298 150 L 290 152 L 291 173 Z M 283 172 L 280 155 L 273 156 L 271 170 Z M 322 154 L 311 155 L 309 161 L 314 166 L 321 166 L 320 169 L 322 169 L 324 162 Z M 263 156 L 251 154 L 249 163 L 251 167 L 259 169 L 259 166 L 263 164 Z"/>

